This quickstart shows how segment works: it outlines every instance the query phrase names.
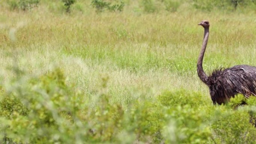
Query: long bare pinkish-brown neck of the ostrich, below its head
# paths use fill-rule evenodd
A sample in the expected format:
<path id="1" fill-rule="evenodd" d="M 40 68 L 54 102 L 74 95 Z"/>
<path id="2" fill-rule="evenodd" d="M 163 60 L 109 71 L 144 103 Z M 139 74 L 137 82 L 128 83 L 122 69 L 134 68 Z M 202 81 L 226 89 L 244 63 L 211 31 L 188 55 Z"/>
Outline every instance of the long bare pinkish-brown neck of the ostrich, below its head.
<path id="1" fill-rule="evenodd" d="M 202 48 L 197 60 L 197 74 L 199 78 L 202 80 L 202 82 L 204 82 L 206 85 L 208 85 L 208 76 L 204 73 L 204 69 L 202 68 L 202 61 L 204 58 L 204 52 L 207 46 L 208 38 L 209 28 L 204 28 L 204 41 L 202 43 Z"/>

